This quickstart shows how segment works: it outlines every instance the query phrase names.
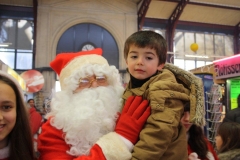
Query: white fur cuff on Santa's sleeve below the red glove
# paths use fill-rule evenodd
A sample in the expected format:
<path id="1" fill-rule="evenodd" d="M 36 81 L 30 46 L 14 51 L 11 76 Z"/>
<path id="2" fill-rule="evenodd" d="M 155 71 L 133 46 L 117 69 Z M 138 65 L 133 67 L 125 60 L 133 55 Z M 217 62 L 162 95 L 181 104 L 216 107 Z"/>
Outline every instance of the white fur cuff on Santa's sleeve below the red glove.
<path id="1" fill-rule="evenodd" d="M 132 157 L 126 144 L 115 132 L 104 135 L 97 141 L 97 144 L 107 160 L 129 160 Z"/>

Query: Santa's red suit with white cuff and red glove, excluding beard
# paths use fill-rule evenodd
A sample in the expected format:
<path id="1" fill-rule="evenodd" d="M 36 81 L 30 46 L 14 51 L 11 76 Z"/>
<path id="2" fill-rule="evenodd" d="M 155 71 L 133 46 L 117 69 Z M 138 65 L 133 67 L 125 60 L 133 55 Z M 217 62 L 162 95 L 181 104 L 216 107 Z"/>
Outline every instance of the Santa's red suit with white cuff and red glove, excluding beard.
<path id="1" fill-rule="evenodd" d="M 115 127 L 115 132 L 102 136 L 92 146 L 88 155 L 72 156 L 67 153 L 70 146 L 64 139 L 62 130 L 53 127 L 51 118 L 43 124 L 42 133 L 39 136 L 38 151 L 39 160 L 127 160 L 131 158 L 131 145 L 138 140 L 147 117 L 150 115 L 150 107 L 141 97 L 129 97 L 121 116 Z M 120 136 L 121 135 L 121 136 Z M 124 137 L 124 138 L 123 138 Z"/>

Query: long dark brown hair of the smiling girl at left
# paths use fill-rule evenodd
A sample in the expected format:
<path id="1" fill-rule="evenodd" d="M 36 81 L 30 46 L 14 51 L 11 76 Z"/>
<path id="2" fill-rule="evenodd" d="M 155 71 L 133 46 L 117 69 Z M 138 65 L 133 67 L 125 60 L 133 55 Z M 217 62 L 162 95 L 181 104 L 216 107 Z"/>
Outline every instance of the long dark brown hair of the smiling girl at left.
<path id="1" fill-rule="evenodd" d="M 0 74 L 0 81 L 9 85 L 16 95 L 16 124 L 8 135 L 10 144 L 9 160 L 34 160 L 33 136 L 29 115 L 19 87 L 8 76 Z"/>

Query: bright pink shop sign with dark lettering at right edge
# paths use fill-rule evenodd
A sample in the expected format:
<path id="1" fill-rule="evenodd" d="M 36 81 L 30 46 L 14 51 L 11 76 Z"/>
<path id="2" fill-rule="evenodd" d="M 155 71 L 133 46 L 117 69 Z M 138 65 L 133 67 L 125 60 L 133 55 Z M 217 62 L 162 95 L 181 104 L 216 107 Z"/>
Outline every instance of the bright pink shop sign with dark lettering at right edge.
<path id="1" fill-rule="evenodd" d="M 216 79 L 240 76 L 240 54 L 213 61 Z"/>

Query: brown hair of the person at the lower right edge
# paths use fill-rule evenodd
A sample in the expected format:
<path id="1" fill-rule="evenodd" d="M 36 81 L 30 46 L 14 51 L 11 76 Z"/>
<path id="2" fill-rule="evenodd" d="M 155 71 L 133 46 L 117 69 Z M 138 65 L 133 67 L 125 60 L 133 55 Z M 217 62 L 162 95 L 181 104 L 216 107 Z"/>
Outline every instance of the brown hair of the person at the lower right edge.
<path id="1" fill-rule="evenodd" d="M 236 122 L 223 122 L 217 131 L 222 138 L 222 146 L 219 153 L 240 148 L 240 124 Z"/>

